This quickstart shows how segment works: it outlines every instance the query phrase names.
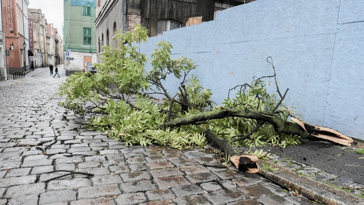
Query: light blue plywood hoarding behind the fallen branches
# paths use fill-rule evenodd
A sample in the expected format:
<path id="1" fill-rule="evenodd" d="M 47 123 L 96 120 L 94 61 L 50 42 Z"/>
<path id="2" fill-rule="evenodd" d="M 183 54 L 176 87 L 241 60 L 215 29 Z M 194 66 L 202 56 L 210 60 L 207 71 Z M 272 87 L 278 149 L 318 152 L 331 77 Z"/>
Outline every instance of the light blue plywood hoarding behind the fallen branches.
<path id="1" fill-rule="evenodd" d="M 162 39 L 173 57 L 198 64 L 192 74 L 219 104 L 229 88 L 272 75 L 272 56 L 280 90 L 290 88 L 287 106 L 309 124 L 364 139 L 363 0 L 257 0 L 150 38 L 141 50 L 150 55 Z M 179 81 L 170 76 L 165 84 L 175 93 Z"/>

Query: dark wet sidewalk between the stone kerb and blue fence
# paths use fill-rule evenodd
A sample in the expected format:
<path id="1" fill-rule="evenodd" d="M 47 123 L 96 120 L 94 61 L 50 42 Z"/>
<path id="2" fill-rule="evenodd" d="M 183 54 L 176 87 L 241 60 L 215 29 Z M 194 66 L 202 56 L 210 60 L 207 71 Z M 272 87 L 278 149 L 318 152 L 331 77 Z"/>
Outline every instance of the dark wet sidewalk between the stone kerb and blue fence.
<path id="1" fill-rule="evenodd" d="M 304 140 L 298 146 L 267 146 L 263 149 L 274 156 L 271 162 L 279 166 L 363 196 L 364 155 L 356 153 L 355 148 Z"/>

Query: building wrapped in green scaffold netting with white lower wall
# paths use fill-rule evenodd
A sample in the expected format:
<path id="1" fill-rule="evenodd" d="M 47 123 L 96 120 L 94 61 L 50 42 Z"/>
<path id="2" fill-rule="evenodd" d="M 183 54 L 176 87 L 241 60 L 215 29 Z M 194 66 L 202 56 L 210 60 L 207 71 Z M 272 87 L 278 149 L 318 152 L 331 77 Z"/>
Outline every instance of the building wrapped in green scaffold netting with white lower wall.
<path id="1" fill-rule="evenodd" d="M 72 74 L 97 62 L 96 0 L 64 0 L 64 51 Z"/>

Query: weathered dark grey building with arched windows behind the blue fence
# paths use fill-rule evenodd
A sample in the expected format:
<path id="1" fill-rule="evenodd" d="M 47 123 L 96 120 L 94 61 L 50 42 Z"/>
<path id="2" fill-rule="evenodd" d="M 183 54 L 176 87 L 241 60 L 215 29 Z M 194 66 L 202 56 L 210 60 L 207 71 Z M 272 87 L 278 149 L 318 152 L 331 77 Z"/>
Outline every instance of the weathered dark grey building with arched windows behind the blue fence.
<path id="1" fill-rule="evenodd" d="M 250 1 L 209 1 L 213 4 L 210 14 Z M 196 8 L 197 0 L 97 0 L 98 54 L 103 52 L 104 45 L 116 44 L 112 40 L 116 31 L 132 31 L 136 24 L 141 24 L 149 30 L 149 37 L 162 35 L 165 31 L 185 27 L 190 17 L 199 15 Z"/>

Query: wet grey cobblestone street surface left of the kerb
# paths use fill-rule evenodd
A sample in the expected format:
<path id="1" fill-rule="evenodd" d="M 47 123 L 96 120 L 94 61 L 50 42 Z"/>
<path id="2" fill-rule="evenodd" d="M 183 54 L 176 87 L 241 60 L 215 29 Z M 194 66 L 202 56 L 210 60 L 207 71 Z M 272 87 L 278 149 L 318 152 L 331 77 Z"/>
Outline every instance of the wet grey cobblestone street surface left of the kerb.
<path id="1" fill-rule="evenodd" d="M 82 119 L 57 105 L 60 75 L 37 68 L 12 84 L 0 83 L 0 205 L 310 204 L 257 174 L 202 166 L 221 165 L 204 149 L 124 147 L 82 129 L 71 120 Z M 54 130 L 58 141 L 47 153 L 36 149 L 52 143 Z M 75 170 L 95 176 L 50 180 Z"/>

